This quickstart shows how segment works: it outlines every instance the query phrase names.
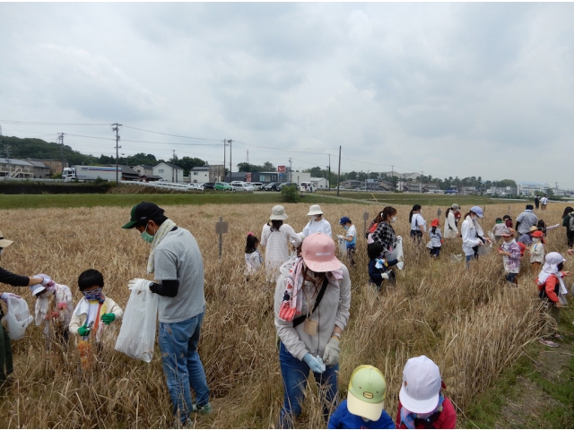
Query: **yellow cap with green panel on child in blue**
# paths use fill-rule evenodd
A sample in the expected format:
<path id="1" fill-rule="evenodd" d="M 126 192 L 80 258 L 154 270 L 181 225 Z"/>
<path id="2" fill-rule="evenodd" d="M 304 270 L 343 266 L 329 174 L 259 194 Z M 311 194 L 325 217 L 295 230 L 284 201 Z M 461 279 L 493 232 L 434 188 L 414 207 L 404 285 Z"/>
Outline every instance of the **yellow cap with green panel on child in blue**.
<path id="1" fill-rule="evenodd" d="M 347 408 L 352 415 L 377 421 L 385 406 L 387 382 L 385 376 L 373 366 L 359 366 L 352 371 Z"/>

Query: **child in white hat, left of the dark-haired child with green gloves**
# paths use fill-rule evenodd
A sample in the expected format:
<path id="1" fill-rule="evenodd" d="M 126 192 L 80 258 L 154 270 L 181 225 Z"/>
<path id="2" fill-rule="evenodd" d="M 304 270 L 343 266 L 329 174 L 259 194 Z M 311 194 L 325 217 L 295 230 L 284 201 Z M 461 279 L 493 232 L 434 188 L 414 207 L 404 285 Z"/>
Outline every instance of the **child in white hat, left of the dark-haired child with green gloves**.
<path id="1" fill-rule="evenodd" d="M 48 275 L 38 277 L 48 280 L 45 286 L 31 285 L 32 296 L 36 297 L 36 325 L 44 323 L 44 335 L 48 340 L 68 340 L 68 324 L 74 309 L 72 291 L 67 285 L 50 280 Z"/>

